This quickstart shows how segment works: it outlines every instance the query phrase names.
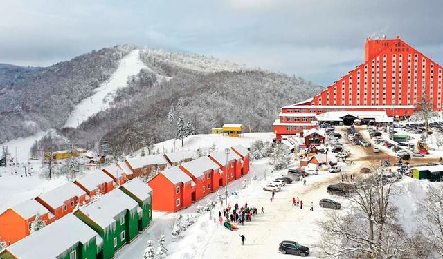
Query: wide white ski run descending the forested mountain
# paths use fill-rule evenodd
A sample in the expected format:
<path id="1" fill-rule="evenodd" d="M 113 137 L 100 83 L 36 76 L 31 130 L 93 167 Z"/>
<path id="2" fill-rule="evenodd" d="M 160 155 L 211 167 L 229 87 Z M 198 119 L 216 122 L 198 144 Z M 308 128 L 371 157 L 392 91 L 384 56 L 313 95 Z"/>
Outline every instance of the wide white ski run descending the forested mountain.
<path id="1" fill-rule="evenodd" d="M 109 108 L 111 99 L 105 99 L 109 94 L 114 93 L 118 88 L 127 86 L 127 77 L 136 75 L 142 68 L 148 69 L 139 58 L 139 50 L 132 50 L 123 57 L 118 64 L 118 68 L 109 80 L 95 89 L 94 95 L 83 99 L 75 106 L 74 111 L 69 115 L 64 127 L 77 128 L 88 117 Z"/>

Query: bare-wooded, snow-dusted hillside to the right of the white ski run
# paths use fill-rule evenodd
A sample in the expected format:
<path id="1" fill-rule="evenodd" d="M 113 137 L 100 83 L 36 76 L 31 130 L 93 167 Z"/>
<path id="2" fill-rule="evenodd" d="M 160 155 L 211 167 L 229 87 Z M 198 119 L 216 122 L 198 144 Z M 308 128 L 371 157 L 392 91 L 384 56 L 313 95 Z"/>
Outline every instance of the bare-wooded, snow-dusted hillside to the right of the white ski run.
<path id="1" fill-rule="evenodd" d="M 179 116 L 192 122 L 196 133 L 229 122 L 243 123 L 247 132 L 272 131 L 281 106 L 323 89 L 298 77 L 213 57 L 149 49 L 140 55 L 148 68 L 118 90 L 111 108 L 77 128 L 73 138 L 80 146 L 93 148 L 97 140 L 111 140 L 116 153 L 130 153 L 143 143 L 173 138 Z"/>

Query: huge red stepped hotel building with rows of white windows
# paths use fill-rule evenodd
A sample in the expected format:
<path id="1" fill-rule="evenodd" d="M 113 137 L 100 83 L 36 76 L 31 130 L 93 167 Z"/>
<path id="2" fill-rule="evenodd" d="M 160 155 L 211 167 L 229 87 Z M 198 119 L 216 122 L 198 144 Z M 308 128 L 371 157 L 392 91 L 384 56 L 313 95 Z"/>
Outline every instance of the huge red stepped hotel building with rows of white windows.
<path id="1" fill-rule="evenodd" d="M 442 66 L 395 39 L 365 42 L 365 62 L 311 99 L 282 107 L 273 123 L 277 139 L 318 125 L 316 115 L 328 111 L 383 111 L 408 117 L 422 99 L 442 109 Z"/>

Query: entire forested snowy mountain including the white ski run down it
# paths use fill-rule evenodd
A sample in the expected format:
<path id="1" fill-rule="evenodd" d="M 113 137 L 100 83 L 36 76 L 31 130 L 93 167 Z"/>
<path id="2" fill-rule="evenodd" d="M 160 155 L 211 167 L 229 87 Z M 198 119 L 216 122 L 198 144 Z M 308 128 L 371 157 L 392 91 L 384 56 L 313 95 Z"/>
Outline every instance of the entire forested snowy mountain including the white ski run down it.
<path id="1" fill-rule="evenodd" d="M 280 107 L 322 90 L 300 77 L 201 55 L 115 46 L 39 68 L 0 86 L 0 143 L 69 127 L 75 144 L 114 140 L 127 153 L 142 142 L 174 137 L 179 116 L 197 133 L 227 122 L 271 131 Z M 171 106 L 177 110 L 167 119 Z"/>

